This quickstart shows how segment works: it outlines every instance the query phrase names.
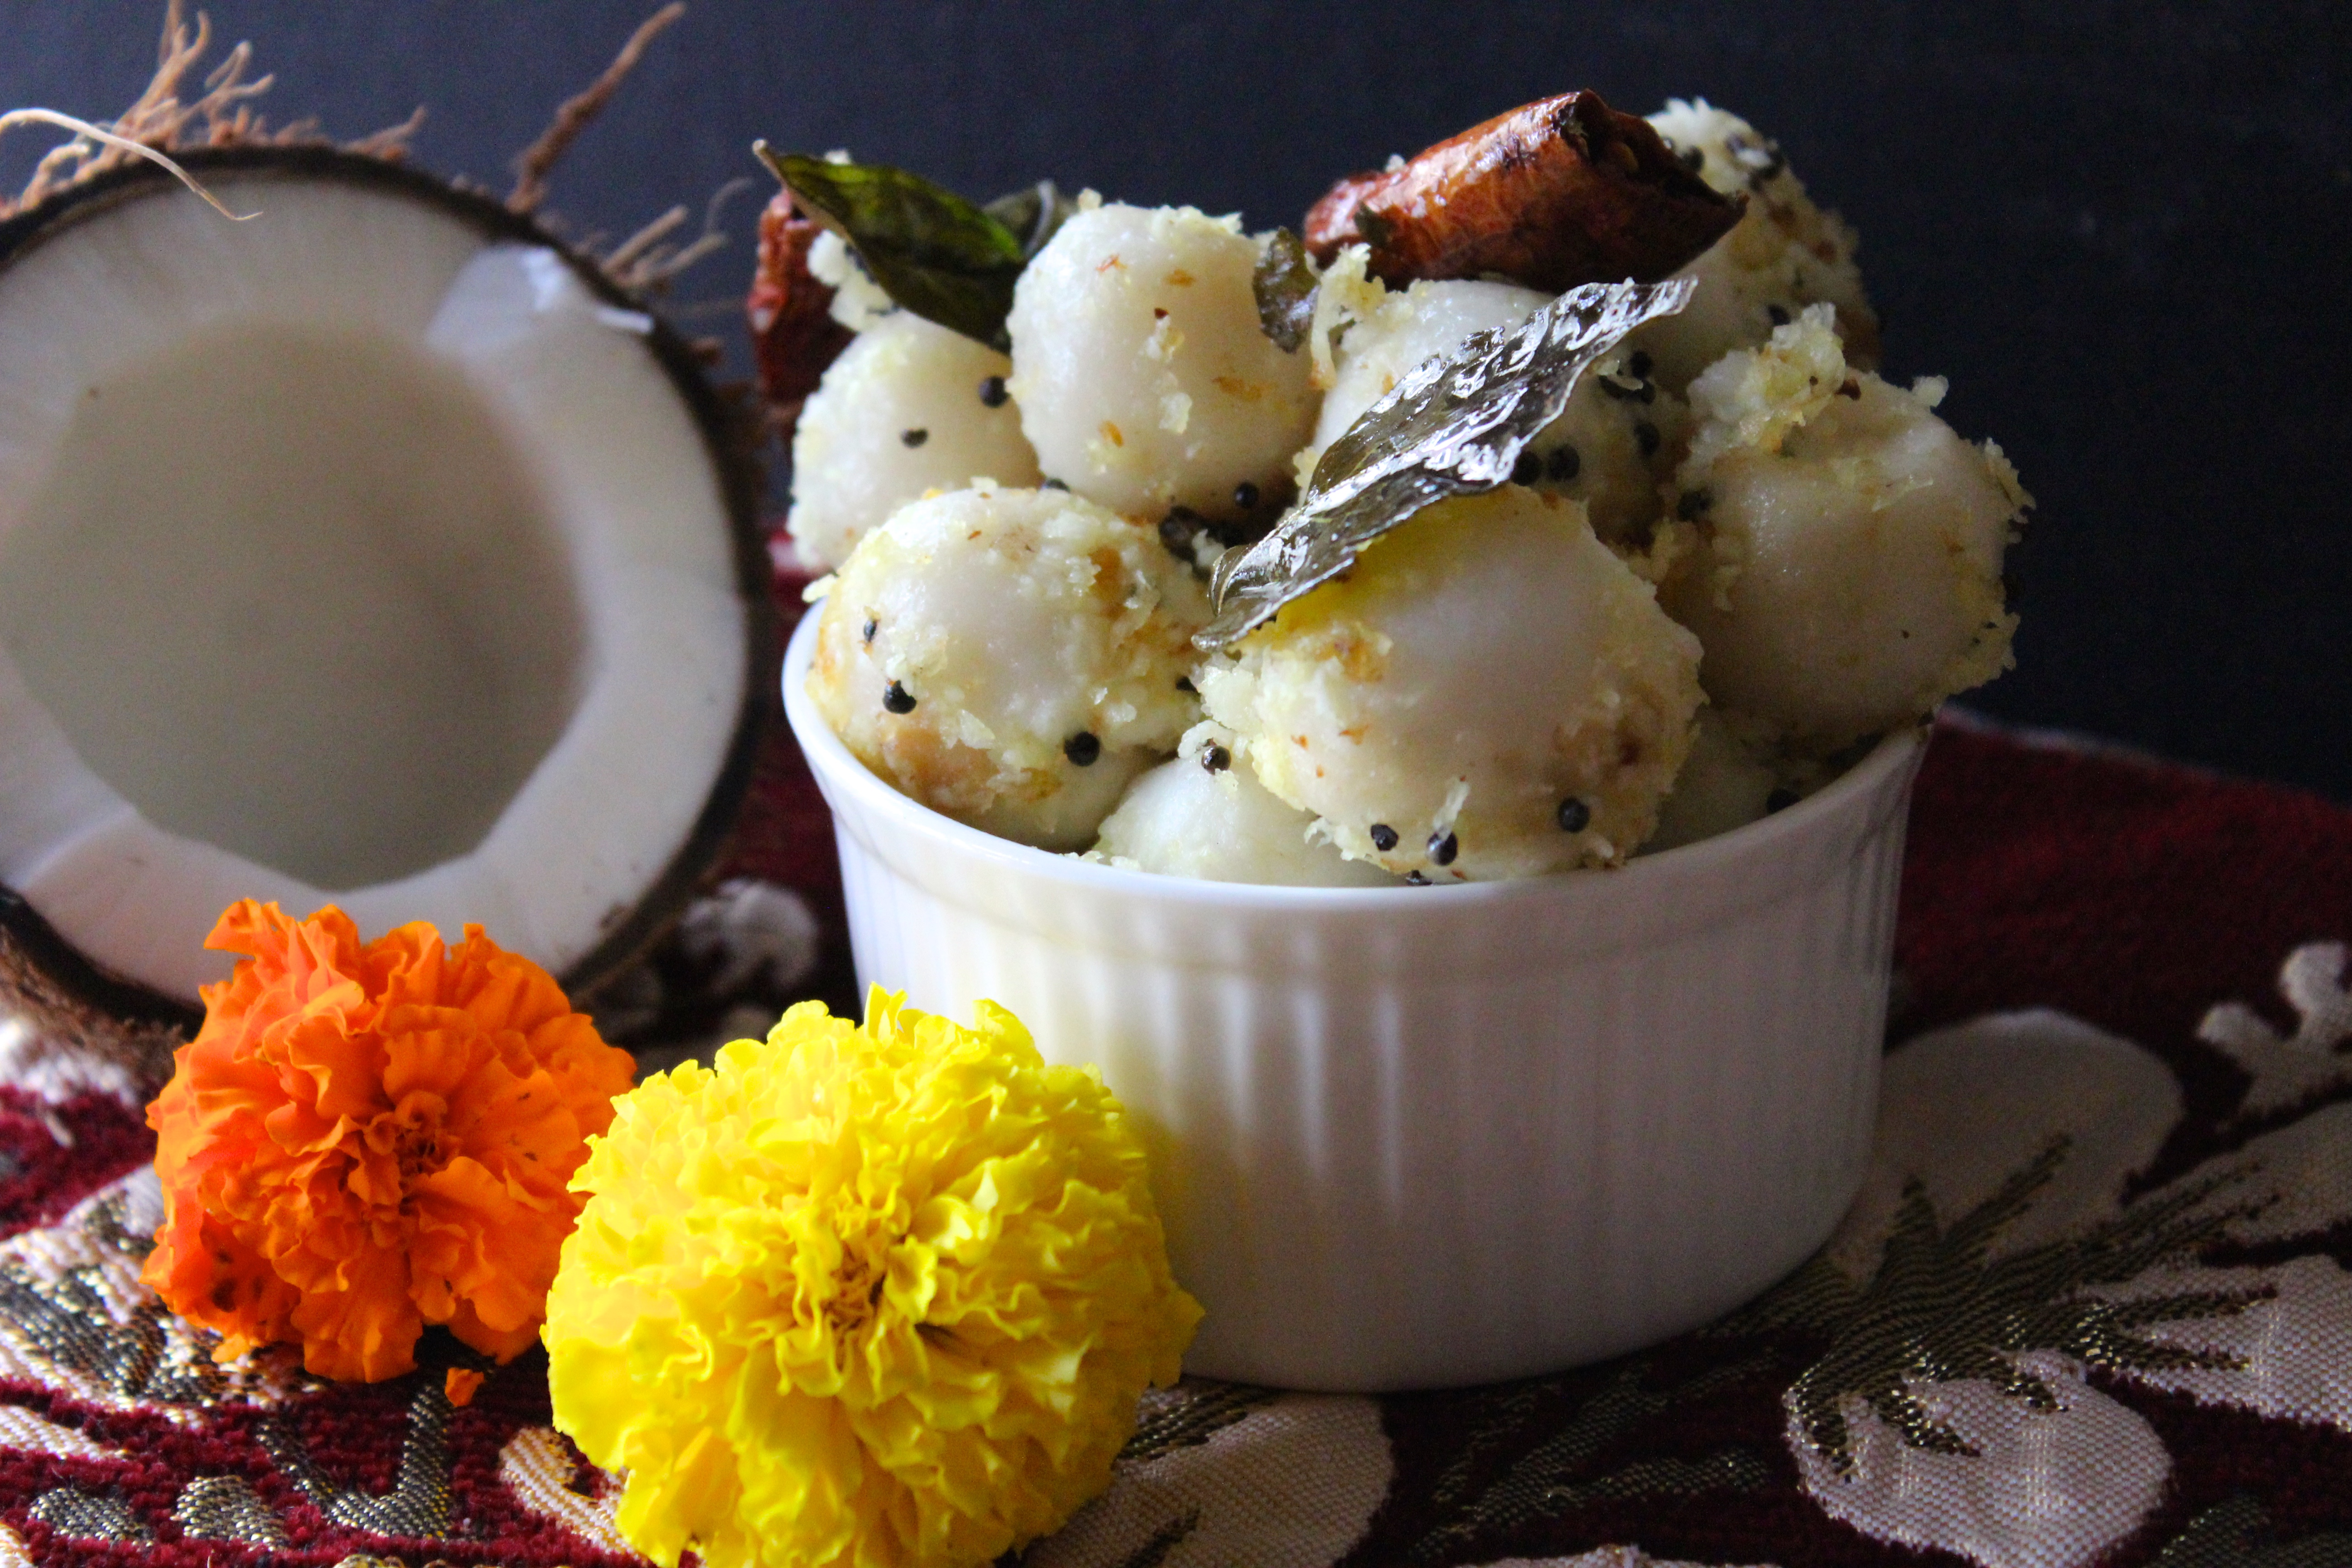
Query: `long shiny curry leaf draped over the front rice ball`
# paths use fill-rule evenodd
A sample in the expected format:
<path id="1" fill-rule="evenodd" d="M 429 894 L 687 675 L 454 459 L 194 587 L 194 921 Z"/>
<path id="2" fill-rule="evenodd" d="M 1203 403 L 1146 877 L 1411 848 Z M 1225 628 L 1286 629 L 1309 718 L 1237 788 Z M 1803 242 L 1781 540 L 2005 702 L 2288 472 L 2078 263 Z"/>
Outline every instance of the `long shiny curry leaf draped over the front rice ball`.
<path id="1" fill-rule="evenodd" d="M 1588 282 L 1414 369 L 1324 449 L 1272 534 L 1216 562 L 1216 618 L 1192 642 L 1211 654 L 1240 642 L 1432 501 L 1503 484 L 1585 369 L 1642 322 L 1682 310 L 1693 287 Z"/>

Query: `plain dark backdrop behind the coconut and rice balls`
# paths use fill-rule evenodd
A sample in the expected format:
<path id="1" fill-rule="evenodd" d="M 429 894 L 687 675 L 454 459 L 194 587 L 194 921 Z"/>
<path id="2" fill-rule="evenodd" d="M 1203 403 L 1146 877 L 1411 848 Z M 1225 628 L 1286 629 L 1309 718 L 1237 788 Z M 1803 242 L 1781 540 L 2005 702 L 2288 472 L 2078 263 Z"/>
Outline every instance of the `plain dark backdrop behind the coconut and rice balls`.
<path id="1" fill-rule="evenodd" d="M 510 160 L 649 14 L 635 0 L 221 0 L 273 118 L 428 120 Z M 7 0 L 0 103 L 113 115 L 162 5 Z M 675 308 L 731 341 L 748 143 L 851 148 L 969 195 L 1049 174 L 1296 223 L 1343 172 L 1526 99 L 1708 96 L 1863 233 L 1893 378 L 1952 378 L 2039 498 L 2018 670 L 1969 698 L 2352 799 L 2352 7 L 913 5 L 696 0 L 555 179 L 576 237 L 675 202 L 731 244 Z M 49 146 L 0 143 L 14 186 Z"/>

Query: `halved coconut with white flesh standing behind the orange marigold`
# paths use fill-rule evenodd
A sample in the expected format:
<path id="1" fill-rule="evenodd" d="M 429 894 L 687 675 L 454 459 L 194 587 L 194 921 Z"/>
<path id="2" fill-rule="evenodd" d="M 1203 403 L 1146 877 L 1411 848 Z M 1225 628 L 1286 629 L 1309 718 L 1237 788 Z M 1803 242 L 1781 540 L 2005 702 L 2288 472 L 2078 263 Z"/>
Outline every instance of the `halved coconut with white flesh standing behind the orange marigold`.
<path id="1" fill-rule="evenodd" d="M 186 1023 L 238 898 L 480 922 L 593 990 L 767 712 L 734 423 L 485 195 L 183 162 L 261 216 L 134 167 L 0 223 L 0 990 Z"/>

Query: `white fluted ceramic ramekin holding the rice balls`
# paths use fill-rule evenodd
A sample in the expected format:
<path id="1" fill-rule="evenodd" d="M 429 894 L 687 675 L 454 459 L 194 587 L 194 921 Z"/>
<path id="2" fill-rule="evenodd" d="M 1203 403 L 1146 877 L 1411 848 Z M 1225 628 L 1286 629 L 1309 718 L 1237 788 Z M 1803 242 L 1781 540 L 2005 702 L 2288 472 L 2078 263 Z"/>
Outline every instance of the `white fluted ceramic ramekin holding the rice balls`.
<path id="1" fill-rule="evenodd" d="M 1185 1368 L 1451 1387 L 1698 1326 L 1830 1234 L 1870 1154 L 1924 736 L 1616 872 L 1279 889 L 1122 872 L 953 823 L 802 691 L 858 980 L 1096 1063 L 1145 1128 Z"/>

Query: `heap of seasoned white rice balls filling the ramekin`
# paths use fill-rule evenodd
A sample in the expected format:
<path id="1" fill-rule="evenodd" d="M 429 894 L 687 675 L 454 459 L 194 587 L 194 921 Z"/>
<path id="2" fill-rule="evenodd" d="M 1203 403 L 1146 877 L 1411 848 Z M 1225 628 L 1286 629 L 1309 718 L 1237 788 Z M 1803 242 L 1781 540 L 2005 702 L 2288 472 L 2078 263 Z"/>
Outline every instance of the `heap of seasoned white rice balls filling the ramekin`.
<path id="1" fill-rule="evenodd" d="M 1853 233 L 1705 101 L 1651 115 L 1745 197 L 1691 303 L 1576 383 L 1512 482 L 1439 501 L 1214 654 L 1209 571 L 1416 364 L 1552 294 L 1390 280 L 1350 244 L 1296 348 L 1270 235 L 1080 200 L 1011 353 L 889 308 L 793 440 L 790 534 L 833 576 L 809 696 L 913 799 L 1174 877 L 1395 886 L 1621 865 L 1762 818 L 1999 675 L 2030 498 L 1882 381 Z"/>

